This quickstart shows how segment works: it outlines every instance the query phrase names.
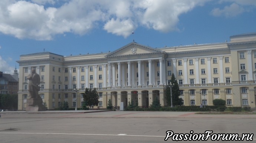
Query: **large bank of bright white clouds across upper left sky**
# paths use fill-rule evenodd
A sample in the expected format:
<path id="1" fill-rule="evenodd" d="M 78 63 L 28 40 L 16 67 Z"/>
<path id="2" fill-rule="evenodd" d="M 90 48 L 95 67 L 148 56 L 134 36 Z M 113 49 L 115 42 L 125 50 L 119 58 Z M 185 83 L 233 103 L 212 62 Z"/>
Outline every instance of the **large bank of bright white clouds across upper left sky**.
<path id="1" fill-rule="evenodd" d="M 127 37 L 139 26 L 178 30 L 179 16 L 209 0 L 1 0 L 0 32 L 16 38 L 52 40 L 57 34 L 83 35 L 103 24 Z M 45 4 L 59 7 L 44 7 Z"/>

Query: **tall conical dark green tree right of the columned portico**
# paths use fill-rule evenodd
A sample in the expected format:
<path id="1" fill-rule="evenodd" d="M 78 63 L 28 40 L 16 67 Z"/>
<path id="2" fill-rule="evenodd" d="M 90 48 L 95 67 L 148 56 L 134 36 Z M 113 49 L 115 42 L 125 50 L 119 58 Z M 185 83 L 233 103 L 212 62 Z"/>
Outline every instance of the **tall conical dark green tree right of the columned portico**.
<path id="1" fill-rule="evenodd" d="M 169 85 L 170 86 L 170 85 Z M 171 88 L 167 86 L 165 90 L 165 99 L 167 102 L 167 106 L 171 106 L 171 93 L 173 106 L 181 105 L 182 98 L 180 98 L 180 87 L 178 85 L 178 81 L 176 80 L 174 74 L 171 75 Z"/>

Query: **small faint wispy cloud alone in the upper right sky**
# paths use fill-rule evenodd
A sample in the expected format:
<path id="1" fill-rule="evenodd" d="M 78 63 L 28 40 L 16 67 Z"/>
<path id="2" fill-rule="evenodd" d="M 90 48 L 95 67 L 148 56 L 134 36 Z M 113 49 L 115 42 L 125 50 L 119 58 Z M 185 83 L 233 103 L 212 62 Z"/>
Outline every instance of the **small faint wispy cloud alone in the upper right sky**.
<path id="1" fill-rule="evenodd" d="M 239 6 L 236 3 L 232 3 L 230 6 L 225 6 L 223 10 L 220 8 L 214 8 L 211 11 L 211 14 L 216 17 L 225 16 L 225 17 L 235 17 L 244 12 L 244 8 Z"/>

